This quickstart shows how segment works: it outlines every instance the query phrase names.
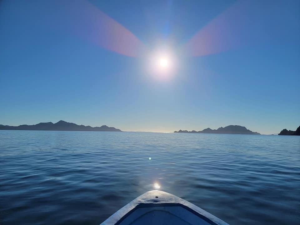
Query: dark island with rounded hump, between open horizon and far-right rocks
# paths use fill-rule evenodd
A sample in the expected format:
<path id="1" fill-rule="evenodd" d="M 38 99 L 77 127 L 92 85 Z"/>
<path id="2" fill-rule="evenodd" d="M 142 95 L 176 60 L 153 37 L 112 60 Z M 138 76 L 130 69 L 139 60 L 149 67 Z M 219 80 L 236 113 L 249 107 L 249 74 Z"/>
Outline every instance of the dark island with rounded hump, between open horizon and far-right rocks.
<path id="1" fill-rule="evenodd" d="M 174 131 L 174 133 L 227 133 L 227 134 L 260 134 L 257 132 L 253 132 L 248 130 L 245 127 L 238 125 L 229 125 L 227 127 L 220 127 L 217 130 L 212 130 L 211 128 L 206 128 L 202 131 L 187 131 L 187 130 L 179 130 Z"/>

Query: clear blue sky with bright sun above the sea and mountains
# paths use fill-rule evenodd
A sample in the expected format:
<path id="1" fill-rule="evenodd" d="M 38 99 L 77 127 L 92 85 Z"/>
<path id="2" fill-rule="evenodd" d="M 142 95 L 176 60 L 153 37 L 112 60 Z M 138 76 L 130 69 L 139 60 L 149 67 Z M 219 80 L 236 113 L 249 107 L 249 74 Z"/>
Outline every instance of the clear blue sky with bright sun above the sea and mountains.
<path id="1" fill-rule="evenodd" d="M 0 124 L 295 130 L 299 40 L 297 0 L 2 0 Z"/>

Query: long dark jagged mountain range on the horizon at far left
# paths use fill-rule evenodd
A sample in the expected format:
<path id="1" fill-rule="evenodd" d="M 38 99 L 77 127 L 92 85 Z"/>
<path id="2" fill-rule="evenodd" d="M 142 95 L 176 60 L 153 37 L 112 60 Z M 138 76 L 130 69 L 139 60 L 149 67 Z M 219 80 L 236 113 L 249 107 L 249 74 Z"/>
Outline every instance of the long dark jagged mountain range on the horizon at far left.
<path id="1" fill-rule="evenodd" d="M 35 125 L 20 125 L 20 126 L 8 126 L 0 125 L 0 130 L 52 130 L 52 131 L 121 131 L 114 127 L 108 127 L 103 125 L 101 127 L 91 127 L 77 125 L 75 123 L 68 123 L 60 120 L 57 123 L 38 123 Z"/>

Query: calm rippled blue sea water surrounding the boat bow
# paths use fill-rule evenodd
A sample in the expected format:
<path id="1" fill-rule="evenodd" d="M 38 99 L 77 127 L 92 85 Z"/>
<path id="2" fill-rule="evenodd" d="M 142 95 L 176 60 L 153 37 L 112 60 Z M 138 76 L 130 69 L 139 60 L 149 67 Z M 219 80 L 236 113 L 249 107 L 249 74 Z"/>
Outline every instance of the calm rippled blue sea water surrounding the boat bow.
<path id="1" fill-rule="evenodd" d="M 0 224 L 99 224 L 154 183 L 231 225 L 299 224 L 300 137 L 0 131 Z"/>

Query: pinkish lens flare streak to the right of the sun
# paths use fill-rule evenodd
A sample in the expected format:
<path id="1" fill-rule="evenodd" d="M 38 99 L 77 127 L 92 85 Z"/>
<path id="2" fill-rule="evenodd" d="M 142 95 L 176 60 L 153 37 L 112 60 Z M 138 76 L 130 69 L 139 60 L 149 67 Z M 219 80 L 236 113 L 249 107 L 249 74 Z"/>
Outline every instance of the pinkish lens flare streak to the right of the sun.
<path id="1" fill-rule="evenodd" d="M 260 5 L 257 7 L 256 1 L 236 1 L 192 36 L 183 46 L 184 51 L 191 56 L 205 56 L 269 41 L 272 26 L 278 26 L 277 30 L 280 30 L 281 17 L 267 2 L 261 1 Z M 258 18 L 259 23 L 255 22 Z"/>

